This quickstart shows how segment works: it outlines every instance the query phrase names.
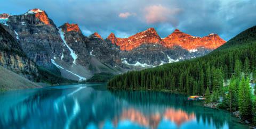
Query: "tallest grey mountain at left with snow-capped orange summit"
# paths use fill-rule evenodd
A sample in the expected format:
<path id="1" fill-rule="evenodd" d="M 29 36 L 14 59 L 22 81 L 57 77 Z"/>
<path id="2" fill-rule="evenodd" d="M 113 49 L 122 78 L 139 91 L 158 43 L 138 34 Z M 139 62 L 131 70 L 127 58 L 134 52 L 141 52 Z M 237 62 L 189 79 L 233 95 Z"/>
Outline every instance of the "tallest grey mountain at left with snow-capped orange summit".
<path id="1" fill-rule="evenodd" d="M 34 9 L 22 15 L 9 16 L 4 27 L 19 42 L 27 57 L 48 70 L 57 71 L 51 58 L 68 55 L 59 29 L 42 10 Z M 70 58 L 66 56 L 65 59 L 69 61 Z"/>

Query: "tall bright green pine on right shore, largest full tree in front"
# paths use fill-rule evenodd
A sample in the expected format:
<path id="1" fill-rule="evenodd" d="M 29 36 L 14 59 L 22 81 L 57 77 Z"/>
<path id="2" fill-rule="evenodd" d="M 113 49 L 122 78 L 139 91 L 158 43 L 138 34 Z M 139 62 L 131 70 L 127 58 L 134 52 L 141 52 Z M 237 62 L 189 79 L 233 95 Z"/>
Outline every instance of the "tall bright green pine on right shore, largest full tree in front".
<path id="1" fill-rule="evenodd" d="M 239 84 L 238 108 L 243 118 L 245 119 L 251 118 L 252 99 L 251 99 L 251 89 L 249 85 L 249 79 L 245 81 L 245 79 L 242 78 Z"/>

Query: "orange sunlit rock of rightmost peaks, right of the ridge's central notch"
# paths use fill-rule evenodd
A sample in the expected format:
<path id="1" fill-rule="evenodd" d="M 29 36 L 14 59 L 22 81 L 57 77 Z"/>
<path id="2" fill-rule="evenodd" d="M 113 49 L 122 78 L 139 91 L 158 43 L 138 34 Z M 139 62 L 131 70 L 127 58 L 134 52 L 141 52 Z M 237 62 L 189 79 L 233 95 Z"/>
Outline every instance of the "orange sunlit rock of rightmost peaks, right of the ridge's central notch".
<path id="1" fill-rule="evenodd" d="M 210 34 L 203 38 L 195 37 L 183 33 L 178 29 L 175 29 L 174 32 L 163 39 L 164 46 L 173 47 L 181 46 L 187 50 L 197 49 L 198 47 L 204 47 L 207 49 L 216 49 L 219 46 L 225 44 L 225 40 L 221 39 L 217 34 Z"/>

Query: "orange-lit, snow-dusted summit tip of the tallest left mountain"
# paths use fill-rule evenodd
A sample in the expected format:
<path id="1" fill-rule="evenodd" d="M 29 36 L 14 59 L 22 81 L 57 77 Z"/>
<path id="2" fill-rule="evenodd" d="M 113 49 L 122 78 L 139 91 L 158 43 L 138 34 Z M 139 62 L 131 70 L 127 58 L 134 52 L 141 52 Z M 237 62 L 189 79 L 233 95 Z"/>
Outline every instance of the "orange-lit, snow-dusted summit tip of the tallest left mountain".
<path id="1" fill-rule="evenodd" d="M 27 13 L 25 13 L 25 15 L 27 15 L 27 14 L 35 14 L 36 18 L 38 18 L 41 22 L 43 22 L 44 24 L 47 24 L 47 25 L 50 24 L 50 20 L 49 20 L 47 14 L 45 13 L 45 11 L 40 10 L 39 8 L 29 10 Z"/>

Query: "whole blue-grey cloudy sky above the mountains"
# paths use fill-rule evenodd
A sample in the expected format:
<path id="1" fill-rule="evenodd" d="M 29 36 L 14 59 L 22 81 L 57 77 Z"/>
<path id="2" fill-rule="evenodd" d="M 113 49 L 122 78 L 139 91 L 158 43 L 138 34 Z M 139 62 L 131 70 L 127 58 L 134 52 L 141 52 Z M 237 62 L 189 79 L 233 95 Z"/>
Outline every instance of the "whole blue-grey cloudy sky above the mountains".
<path id="1" fill-rule="evenodd" d="M 57 26 L 78 23 L 84 35 L 129 37 L 154 27 L 162 38 L 175 28 L 194 36 L 229 40 L 256 25 L 255 0 L 1 0 L 0 13 L 45 10 Z"/>

